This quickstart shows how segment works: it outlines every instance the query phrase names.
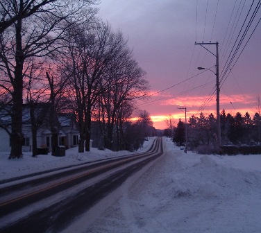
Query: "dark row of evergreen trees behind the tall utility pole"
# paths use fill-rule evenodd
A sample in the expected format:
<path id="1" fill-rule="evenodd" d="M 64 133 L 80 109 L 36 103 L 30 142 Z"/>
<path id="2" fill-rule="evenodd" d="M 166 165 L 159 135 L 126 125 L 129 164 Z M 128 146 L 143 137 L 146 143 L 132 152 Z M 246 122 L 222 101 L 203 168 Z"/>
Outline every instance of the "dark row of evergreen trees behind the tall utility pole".
<path id="1" fill-rule="evenodd" d="M 261 115 L 256 112 L 253 117 L 248 112 L 244 116 L 237 112 L 235 116 L 226 113 L 220 114 L 221 143 L 235 145 L 253 145 L 261 142 Z M 217 146 L 217 119 L 213 114 L 198 117 L 192 115 L 187 123 L 188 147 L 194 149 L 199 145 Z M 165 130 L 165 135 L 169 130 Z M 185 143 L 185 123 L 178 121 L 174 129 L 174 142 Z"/>

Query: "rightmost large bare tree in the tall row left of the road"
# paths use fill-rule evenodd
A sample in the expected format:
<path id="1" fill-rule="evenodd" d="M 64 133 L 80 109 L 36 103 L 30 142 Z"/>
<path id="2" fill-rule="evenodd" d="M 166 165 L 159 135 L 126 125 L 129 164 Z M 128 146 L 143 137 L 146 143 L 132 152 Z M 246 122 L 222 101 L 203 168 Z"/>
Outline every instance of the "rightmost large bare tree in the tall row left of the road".
<path id="1" fill-rule="evenodd" d="M 103 126 L 106 128 L 106 148 L 112 149 L 112 137 L 120 106 L 126 101 L 128 103 L 133 101 L 134 105 L 135 98 L 146 94 L 148 86 L 144 74 L 127 48 L 115 57 L 108 71 L 108 83 L 101 93 L 101 106 L 105 110 L 103 113 L 106 114 L 106 117 L 102 118 Z"/>

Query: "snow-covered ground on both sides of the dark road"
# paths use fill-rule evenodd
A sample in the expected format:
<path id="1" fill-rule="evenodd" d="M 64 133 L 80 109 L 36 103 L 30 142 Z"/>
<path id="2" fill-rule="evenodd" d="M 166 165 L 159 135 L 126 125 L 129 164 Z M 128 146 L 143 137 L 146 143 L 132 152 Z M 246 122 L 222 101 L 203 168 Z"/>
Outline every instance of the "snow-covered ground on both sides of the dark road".
<path id="1" fill-rule="evenodd" d="M 261 232 L 261 155 L 185 154 L 169 139 L 163 140 L 164 156 L 128 178 L 63 232 Z M 1 156 L 1 180 L 112 155 L 92 149 L 81 156 L 69 150 L 65 157 L 8 161 Z"/>

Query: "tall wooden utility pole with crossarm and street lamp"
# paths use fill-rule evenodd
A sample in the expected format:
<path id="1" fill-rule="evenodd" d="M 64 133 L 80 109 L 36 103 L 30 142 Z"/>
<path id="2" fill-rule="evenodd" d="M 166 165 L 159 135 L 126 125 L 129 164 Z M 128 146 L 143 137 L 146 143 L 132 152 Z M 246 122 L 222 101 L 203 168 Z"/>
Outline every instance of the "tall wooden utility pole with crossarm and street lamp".
<path id="1" fill-rule="evenodd" d="M 221 153 L 221 128 L 220 128 L 220 111 L 219 111 L 219 92 L 220 92 L 220 87 L 219 87 L 219 42 L 209 42 L 209 43 L 196 43 L 195 44 L 199 44 L 200 46 L 202 46 L 204 49 L 206 49 L 207 51 L 209 51 L 207 48 L 205 48 L 203 45 L 204 44 L 215 44 L 216 45 L 216 54 L 212 53 L 211 51 L 209 51 L 210 53 L 212 53 L 212 55 L 214 55 L 216 57 L 216 85 L 217 85 L 217 144 L 219 147 L 219 153 Z M 202 67 L 199 67 L 201 69 L 205 69 Z M 211 69 L 209 69 L 210 71 L 212 71 Z M 212 71 L 213 72 L 213 71 Z"/>

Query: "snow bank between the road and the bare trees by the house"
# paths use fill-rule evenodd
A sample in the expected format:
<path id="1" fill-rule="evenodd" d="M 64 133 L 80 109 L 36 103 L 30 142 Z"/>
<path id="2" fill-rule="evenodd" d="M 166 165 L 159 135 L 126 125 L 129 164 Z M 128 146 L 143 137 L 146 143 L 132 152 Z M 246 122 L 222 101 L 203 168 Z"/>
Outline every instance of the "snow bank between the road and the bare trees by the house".
<path id="1" fill-rule="evenodd" d="M 152 143 L 153 138 L 144 141 L 143 147 L 135 151 L 135 153 L 149 150 Z M 65 157 L 52 156 L 51 153 L 32 157 L 32 153 L 24 152 L 22 159 L 8 160 L 9 153 L 5 152 L 0 153 L 0 180 L 130 154 L 133 153 L 126 150 L 113 152 L 107 149 L 98 150 L 97 148 L 90 148 L 90 152 L 78 153 L 78 147 L 75 147 L 65 150 Z"/>

